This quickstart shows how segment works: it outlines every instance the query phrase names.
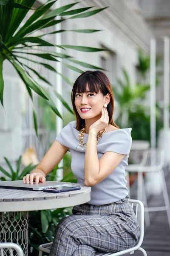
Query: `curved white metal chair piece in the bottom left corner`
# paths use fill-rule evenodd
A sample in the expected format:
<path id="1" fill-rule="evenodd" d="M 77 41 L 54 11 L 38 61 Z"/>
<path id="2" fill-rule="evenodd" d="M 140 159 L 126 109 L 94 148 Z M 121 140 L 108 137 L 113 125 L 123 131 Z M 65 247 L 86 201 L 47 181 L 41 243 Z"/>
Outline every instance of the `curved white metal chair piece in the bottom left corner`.
<path id="1" fill-rule="evenodd" d="M 7 250 L 4 251 L 4 249 L 7 249 L 10 252 L 10 256 L 14 256 L 13 251 L 17 251 L 17 256 L 24 256 L 23 250 L 18 244 L 14 243 L 0 243 L 0 256 L 6 256 Z M 16 255 L 16 254 L 15 254 Z"/>

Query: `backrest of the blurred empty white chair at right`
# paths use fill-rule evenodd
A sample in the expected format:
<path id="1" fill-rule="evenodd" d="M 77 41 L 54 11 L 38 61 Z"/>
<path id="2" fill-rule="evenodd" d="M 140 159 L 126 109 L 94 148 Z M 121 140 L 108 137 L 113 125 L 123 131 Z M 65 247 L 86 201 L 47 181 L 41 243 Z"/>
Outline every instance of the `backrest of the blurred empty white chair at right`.
<path id="1" fill-rule="evenodd" d="M 162 169 L 164 166 L 164 150 L 160 148 L 150 148 L 143 153 L 142 166 L 150 169 Z"/>

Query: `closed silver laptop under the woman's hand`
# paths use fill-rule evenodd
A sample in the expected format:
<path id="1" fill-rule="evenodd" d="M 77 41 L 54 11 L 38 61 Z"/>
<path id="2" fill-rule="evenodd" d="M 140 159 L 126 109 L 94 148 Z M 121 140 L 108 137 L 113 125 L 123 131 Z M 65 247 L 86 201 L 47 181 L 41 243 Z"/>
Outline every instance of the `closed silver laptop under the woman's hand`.
<path id="1" fill-rule="evenodd" d="M 23 183 L 23 180 L 14 180 L 14 181 L 0 181 L 0 188 L 2 189 L 23 189 L 23 190 L 43 190 L 51 187 L 58 186 L 71 186 L 70 182 L 62 181 L 45 181 L 45 183 L 35 184 L 26 184 Z"/>

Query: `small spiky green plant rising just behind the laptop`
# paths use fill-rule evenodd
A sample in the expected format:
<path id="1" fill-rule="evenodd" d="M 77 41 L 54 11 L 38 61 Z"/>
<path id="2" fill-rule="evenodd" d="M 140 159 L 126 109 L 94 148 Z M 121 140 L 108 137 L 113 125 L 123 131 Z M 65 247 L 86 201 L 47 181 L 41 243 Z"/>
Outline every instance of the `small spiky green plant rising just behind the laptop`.
<path id="1" fill-rule="evenodd" d="M 24 176 L 26 176 L 29 172 L 31 172 L 37 166 L 37 165 L 33 166 L 32 164 L 29 164 L 23 170 L 21 170 L 21 158 L 22 158 L 22 156 L 20 156 L 19 159 L 17 160 L 16 171 L 14 171 L 9 160 L 6 157 L 4 157 L 6 163 L 9 167 L 10 172 L 6 171 L 5 169 L 3 169 L 2 166 L 0 166 L 0 171 L 4 175 L 4 176 L 0 177 L 1 181 L 22 180 Z"/>

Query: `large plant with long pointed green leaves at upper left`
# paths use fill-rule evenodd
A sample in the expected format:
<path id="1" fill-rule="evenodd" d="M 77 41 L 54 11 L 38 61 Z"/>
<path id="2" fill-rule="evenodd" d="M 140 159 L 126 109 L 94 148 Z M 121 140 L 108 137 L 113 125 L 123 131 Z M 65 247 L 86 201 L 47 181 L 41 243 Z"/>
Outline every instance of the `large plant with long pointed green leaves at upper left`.
<path id="1" fill-rule="evenodd" d="M 76 19 L 76 18 L 85 18 L 92 16 L 96 13 L 101 12 L 105 8 L 95 9 L 88 11 L 93 6 L 71 9 L 77 3 L 71 3 L 65 6 L 61 6 L 57 9 L 51 10 L 51 7 L 57 2 L 57 0 L 47 0 L 45 4 L 39 6 L 37 9 L 34 9 L 34 3 L 36 0 L 0 0 L 0 102 L 3 105 L 3 61 L 8 60 L 17 71 L 18 75 L 22 79 L 23 83 L 26 86 L 26 90 L 31 97 L 33 102 L 33 91 L 43 97 L 50 108 L 54 113 L 62 118 L 61 114 L 57 110 L 51 96 L 47 91 L 38 83 L 37 79 L 34 79 L 33 73 L 37 76 L 38 79 L 45 82 L 47 85 L 51 86 L 52 84 L 43 76 L 41 76 L 37 70 L 32 69 L 29 65 L 24 64 L 23 60 L 33 62 L 37 65 L 43 66 L 48 70 L 52 70 L 55 73 L 62 76 L 62 79 L 67 81 L 68 84 L 72 85 L 72 82 L 59 73 L 53 66 L 50 64 L 44 63 L 44 61 L 34 61 L 30 56 L 36 56 L 42 60 L 48 61 L 61 61 L 65 59 L 71 63 L 78 64 L 86 68 L 101 69 L 94 65 L 75 60 L 72 56 L 67 54 L 58 53 L 55 51 L 41 50 L 42 47 L 59 47 L 63 50 L 65 49 L 75 49 L 83 52 L 98 52 L 105 49 L 93 48 L 93 47 L 83 47 L 75 45 L 55 45 L 48 41 L 42 39 L 45 35 L 48 34 L 57 34 L 65 32 L 66 30 L 52 31 L 47 34 L 34 36 L 34 32 L 40 31 L 40 29 L 53 27 L 57 23 L 61 23 L 64 20 Z M 26 17 L 29 10 L 34 10 L 33 14 L 28 18 L 28 20 L 23 23 L 23 19 Z M 86 12 L 88 11 L 88 12 Z M 61 17 L 62 16 L 62 17 Z M 56 19 L 56 17 L 59 17 Z M 64 18 L 63 18 L 64 17 Z M 68 17 L 68 18 L 66 18 Z M 21 25 L 22 23 L 22 25 Z M 96 29 L 74 29 L 72 32 L 78 33 L 94 33 L 100 30 Z M 38 46 L 38 49 L 37 49 Z M 63 61 L 61 61 L 63 63 Z M 77 67 L 74 67 L 70 64 L 63 63 L 66 67 L 76 72 L 82 73 L 83 71 Z M 65 108 L 68 109 L 71 113 L 73 111 L 65 102 L 59 93 L 57 93 L 54 88 L 51 86 L 51 90 L 54 94 L 61 100 Z M 34 128 L 37 134 L 37 115 L 34 109 L 33 102 L 33 116 L 34 116 Z"/>

